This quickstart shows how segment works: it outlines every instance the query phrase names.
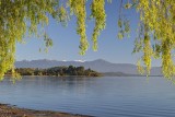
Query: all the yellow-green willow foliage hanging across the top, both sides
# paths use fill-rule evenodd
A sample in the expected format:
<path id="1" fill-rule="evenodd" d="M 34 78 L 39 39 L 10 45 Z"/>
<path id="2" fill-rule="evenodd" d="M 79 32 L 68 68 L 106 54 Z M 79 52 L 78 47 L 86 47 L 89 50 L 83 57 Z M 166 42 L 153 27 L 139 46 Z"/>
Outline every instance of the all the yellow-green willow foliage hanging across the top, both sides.
<path id="1" fill-rule="evenodd" d="M 15 44 L 24 36 L 39 35 L 38 28 L 49 23 L 49 16 L 67 25 L 70 16 L 77 17 L 77 34 L 80 35 L 80 54 L 89 48 L 86 38 L 86 7 L 95 22 L 92 34 L 93 49 L 97 50 L 97 38 L 106 25 L 105 2 L 112 0 L 1 0 L 0 1 L 0 78 L 8 70 L 14 72 Z M 125 1 L 125 2 L 124 2 Z M 140 22 L 133 52 L 142 52 L 139 65 L 144 65 L 147 74 L 151 70 L 152 58 L 162 60 L 162 73 L 172 80 L 175 74 L 173 50 L 175 48 L 175 0 L 120 0 L 118 38 L 130 33 L 129 19 L 122 15 L 122 9 L 136 9 Z M 46 32 L 47 33 L 47 32 Z M 51 38 L 44 33 L 46 47 L 52 46 Z M 138 67 L 141 72 L 144 68 Z"/>

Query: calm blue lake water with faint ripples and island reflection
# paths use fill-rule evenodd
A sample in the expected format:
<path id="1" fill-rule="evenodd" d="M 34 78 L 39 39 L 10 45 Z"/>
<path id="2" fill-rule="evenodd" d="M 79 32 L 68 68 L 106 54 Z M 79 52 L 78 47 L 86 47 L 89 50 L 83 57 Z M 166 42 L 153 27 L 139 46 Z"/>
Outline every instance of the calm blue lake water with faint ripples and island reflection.
<path id="1" fill-rule="evenodd" d="M 0 83 L 0 103 L 96 117 L 175 117 L 175 84 L 154 77 L 24 77 Z"/>

